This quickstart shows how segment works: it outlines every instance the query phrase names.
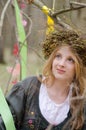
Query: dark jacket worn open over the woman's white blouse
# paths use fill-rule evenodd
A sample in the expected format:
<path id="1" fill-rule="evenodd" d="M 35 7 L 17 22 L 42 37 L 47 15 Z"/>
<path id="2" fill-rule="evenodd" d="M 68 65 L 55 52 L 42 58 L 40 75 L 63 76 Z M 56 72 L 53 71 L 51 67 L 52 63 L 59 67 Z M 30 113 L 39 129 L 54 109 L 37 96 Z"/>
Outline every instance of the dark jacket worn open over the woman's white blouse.
<path id="1" fill-rule="evenodd" d="M 14 85 L 7 95 L 6 99 L 14 118 L 16 130 L 46 130 L 49 126 L 39 109 L 40 85 L 37 77 L 30 77 Z M 68 117 L 58 126 L 53 126 L 51 130 L 62 130 L 70 118 L 69 112 Z M 0 130 L 5 130 L 1 118 Z M 70 130 L 70 126 L 66 130 Z M 86 124 L 83 125 L 81 130 L 86 130 Z"/>

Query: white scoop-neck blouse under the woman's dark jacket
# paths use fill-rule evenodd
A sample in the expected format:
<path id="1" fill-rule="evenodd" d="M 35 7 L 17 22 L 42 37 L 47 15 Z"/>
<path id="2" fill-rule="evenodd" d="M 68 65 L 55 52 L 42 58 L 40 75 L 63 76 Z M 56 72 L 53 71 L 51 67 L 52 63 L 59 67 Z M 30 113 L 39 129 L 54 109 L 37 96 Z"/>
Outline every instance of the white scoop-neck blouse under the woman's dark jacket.
<path id="1" fill-rule="evenodd" d="M 64 119 L 67 117 L 67 114 L 70 109 L 69 95 L 64 101 L 64 103 L 56 104 L 49 98 L 46 86 L 44 84 L 41 84 L 39 92 L 39 108 L 43 117 L 50 124 L 58 125 L 63 122 Z"/>

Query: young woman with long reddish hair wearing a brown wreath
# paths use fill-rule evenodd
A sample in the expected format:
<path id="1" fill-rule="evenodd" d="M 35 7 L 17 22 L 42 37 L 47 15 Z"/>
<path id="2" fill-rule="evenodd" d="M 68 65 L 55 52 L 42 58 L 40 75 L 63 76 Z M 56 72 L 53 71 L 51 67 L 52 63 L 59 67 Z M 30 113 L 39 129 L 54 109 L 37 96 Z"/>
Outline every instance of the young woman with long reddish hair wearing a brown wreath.
<path id="1" fill-rule="evenodd" d="M 16 129 L 86 130 L 86 40 L 74 31 L 55 31 L 43 52 L 43 74 L 20 81 L 6 98 Z"/>

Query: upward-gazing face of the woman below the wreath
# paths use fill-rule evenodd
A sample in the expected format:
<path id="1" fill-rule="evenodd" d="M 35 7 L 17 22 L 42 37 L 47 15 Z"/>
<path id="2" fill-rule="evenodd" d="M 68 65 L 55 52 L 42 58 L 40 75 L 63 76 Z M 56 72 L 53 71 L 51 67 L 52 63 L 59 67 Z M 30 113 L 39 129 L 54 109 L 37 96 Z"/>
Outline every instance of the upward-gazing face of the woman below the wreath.
<path id="1" fill-rule="evenodd" d="M 55 79 L 72 82 L 75 76 L 75 55 L 68 46 L 61 47 L 53 60 L 52 73 Z"/>

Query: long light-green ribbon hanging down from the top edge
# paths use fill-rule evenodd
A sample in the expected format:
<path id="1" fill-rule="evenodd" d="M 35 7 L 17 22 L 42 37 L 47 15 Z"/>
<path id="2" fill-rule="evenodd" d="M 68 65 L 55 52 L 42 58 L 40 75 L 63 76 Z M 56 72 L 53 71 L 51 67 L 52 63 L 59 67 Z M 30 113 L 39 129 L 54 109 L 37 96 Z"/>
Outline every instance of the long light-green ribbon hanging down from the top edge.
<path id="1" fill-rule="evenodd" d="M 24 26 L 22 24 L 20 9 L 16 0 L 15 0 L 15 14 L 16 14 L 19 44 L 20 44 L 20 62 L 21 62 L 20 77 L 21 79 L 24 79 L 27 74 L 27 42 L 25 40 L 26 34 L 25 34 Z"/>

